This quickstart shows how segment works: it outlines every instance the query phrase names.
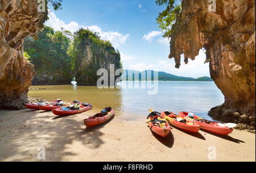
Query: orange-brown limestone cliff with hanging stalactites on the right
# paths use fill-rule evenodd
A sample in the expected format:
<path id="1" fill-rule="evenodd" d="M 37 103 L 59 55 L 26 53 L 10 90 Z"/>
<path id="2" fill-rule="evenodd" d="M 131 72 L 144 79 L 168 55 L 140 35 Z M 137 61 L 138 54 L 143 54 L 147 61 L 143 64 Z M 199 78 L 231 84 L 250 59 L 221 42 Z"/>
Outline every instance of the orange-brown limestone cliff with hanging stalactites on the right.
<path id="1" fill-rule="evenodd" d="M 187 64 L 204 48 L 210 75 L 225 96 L 209 115 L 255 129 L 255 0 L 217 0 L 216 12 L 207 2 L 182 1 L 169 58 L 179 68 L 181 54 Z"/>

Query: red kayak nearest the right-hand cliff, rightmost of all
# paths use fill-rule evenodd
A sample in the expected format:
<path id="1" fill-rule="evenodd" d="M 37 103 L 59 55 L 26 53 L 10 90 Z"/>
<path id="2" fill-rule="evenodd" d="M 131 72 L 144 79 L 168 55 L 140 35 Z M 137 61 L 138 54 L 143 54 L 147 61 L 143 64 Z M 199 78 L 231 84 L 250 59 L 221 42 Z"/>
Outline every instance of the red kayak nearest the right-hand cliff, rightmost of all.
<path id="1" fill-rule="evenodd" d="M 188 112 L 180 112 L 179 116 L 185 118 L 188 117 Z M 201 126 L 201 129 L 208 130 L 209 132 L 221 134 L 221 135 L 228 135 L 233 132 L 233 128 L 228 127 L 222 127 L 219 126 L 217 123 L 203 123 L 201 121 L 198 121 L 197 119 L 200 119 L 200 117 L 197 117 L 196 115 L 193 115 L 195 118 L 195 123 Z"/>

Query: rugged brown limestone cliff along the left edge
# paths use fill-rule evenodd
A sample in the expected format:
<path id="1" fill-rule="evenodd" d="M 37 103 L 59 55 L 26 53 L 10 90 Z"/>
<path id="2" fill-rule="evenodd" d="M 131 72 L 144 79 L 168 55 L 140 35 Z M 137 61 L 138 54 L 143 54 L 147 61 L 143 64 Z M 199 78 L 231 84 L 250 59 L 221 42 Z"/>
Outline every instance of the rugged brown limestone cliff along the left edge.
<path id="1" fill-rule="evenodd" d="M 23 39 L 35 35 L 46 20 L 37 1 L 0 0 L 0 108 L 20 109 L 35 75 L 23 57 Z"/>

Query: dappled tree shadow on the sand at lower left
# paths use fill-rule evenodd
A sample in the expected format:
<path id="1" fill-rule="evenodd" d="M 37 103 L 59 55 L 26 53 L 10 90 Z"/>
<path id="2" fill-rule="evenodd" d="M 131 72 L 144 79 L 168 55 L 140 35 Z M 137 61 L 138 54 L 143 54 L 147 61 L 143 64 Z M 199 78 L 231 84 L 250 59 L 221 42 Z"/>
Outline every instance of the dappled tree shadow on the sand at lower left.
<path id="1" fill-rule="evenodd" d="M 47 161 L 61 161 L 64 157 L 71 155 L 76 157 L 77 153 L 73 151 L 66 151 L 69 149 L 69 145 L 74 141 L 81 142 L 81 144 L 90 149 L 97 149 L 105 142 L 101 139 L 104 136 L 104 132 L 101 132 L 100 128 L 109 123 L 103 123 L 92 129 L 84 130 L 84 124 L 79 123 L 73 119 L 59 119 L 61 121 L 49 121 L 52 119 L 51 114 L 38 114 L 36 111 L 20 111 L 23 115 L 20 118 L 19 124 L 12 128 L 20 129 L 19 135 L 10 133 L 10 137 L 7 139 L 6 144 L 1 146 L 2 153 L 0 154 L 0 161 L 8 159 L 8 161 L 24 161 L 28 159 L 31 161 L 38 161 L 36 154 L 35 157 L 29 156 L 28 150 L 36 149 L 38 146 L 47 146 Z M 11 112 L 1 115 L 1 118 L 15 119 L 16 113 Z M 63 116 L 61 116 L 63 117 Z M 60 117 L 59 117 L 60 118 Z M 111 120 L 111 119 L 110 119 Z M 39 125 L 40 124 L 40 125 Z M 61 124 L 61 125 L 58 125 Z M 9 130 L 8 128 L 5 130 Z M 0 136 L 5 133 L 1 131 Z M 11 146 L 11 150 L 10 150 Z M 38 152 L 37 150 L 35 152 Z M 22 157 L 16 157 L 16 155 Z"/>

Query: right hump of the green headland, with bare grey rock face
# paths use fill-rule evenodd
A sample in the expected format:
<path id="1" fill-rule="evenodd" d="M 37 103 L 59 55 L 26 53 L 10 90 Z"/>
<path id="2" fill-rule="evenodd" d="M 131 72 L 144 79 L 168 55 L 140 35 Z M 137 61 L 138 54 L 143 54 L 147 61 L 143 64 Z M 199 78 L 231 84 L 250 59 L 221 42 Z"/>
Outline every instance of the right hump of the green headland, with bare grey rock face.
<path id="1" fill-rule="evenodd" d="M 85 29 L 77 31 L 75 38 L 74 47 L 78 51 L 74 58 L 74 73 L 77 82 L 96 83 L 99 78 L 97 70 L 110 72 L 110 64 L 114 64 L 115 70 L 122 68 L 120 53 L 109 41 L 101 40 L 96 33 Z"/>

